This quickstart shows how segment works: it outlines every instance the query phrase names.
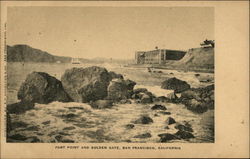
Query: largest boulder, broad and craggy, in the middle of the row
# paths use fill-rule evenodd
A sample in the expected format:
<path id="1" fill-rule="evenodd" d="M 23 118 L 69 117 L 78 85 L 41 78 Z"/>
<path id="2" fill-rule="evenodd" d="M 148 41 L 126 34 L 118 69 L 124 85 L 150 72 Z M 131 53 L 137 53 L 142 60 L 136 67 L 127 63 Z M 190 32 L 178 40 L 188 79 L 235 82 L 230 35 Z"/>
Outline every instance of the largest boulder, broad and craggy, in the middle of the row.
<path id="1" fill-rule="evenodd" d="M 65 91 L 75 102 L 90 102 L 107 97 L 112 77 L 105 68 L 92 66 L 65 71 L 61 80 Z"/>

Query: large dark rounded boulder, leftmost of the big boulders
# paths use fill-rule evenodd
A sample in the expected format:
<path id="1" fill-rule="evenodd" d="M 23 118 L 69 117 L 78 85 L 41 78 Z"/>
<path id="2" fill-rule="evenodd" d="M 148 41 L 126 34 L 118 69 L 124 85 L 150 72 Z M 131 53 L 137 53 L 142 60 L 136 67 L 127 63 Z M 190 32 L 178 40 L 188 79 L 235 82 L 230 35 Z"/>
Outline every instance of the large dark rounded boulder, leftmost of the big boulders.
<path id="1" fill-rule="evenodd" d="M 21 101 L 47 104 L 52 101 L 70 102 L 71 98 L 64 91 L 62 83 L 44 72 L 29 74 L 18 91 Z"/>

